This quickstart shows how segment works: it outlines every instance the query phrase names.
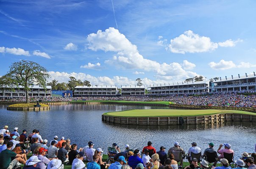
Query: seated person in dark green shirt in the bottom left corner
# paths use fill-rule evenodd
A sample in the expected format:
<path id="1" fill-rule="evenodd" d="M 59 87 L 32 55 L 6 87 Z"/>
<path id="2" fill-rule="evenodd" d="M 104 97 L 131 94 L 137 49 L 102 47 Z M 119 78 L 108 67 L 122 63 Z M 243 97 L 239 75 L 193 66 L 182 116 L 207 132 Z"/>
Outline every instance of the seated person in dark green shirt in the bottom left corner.
<path id="1" fill-rule="evenodd" d="M 3 150 L 0 153 L 0 169 L 12 169 L 17 164 L 17 162 L 21 164 L 26 163 L 26 161 L 22 158 L 22 155 L 11 151 L 12 146 L 13 142 L 8 142 L 6 150 Z M 11 158 L 14 158 L 14 160 L 11 160 Z"/>

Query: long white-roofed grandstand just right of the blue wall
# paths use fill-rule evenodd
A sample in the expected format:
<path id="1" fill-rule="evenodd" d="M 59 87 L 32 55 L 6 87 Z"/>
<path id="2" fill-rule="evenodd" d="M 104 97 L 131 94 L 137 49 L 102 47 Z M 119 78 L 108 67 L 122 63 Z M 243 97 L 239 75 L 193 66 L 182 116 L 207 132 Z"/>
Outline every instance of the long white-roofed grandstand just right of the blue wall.
<path id="1" fill-rule="evenodd" d="M 116 96 L 117 93 L 115 86 L 76 86 L 73 96 Z"/>

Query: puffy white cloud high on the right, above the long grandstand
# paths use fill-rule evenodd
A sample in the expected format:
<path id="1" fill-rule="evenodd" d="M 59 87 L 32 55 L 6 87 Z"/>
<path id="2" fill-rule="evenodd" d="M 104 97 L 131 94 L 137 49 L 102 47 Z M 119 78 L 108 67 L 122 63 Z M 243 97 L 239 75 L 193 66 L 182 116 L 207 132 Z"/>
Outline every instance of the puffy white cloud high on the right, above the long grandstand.
<path id="1" fill-rule="evenodd" d="M 169 49 L 173 53 L 198 53 L 208 52 L 218 47 L 217 43 L 211 42 L 209 37 L 199 36 L 192 30 L 185 31 L 184 34 L 171 39 Z"/>

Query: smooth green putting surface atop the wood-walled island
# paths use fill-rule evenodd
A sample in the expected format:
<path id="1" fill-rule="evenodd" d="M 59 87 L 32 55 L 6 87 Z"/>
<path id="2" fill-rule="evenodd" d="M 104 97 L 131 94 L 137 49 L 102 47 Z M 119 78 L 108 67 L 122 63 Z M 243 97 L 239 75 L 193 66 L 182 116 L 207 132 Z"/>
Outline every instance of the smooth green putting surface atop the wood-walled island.
<path id="1" fill-rule="evenodd" d="M 245 112 L 239 110 L 219 110 L 219 109 L 203 109 L 203 110 L 181 110 L 181 109 L 134 109 L 121 112 L 103 113 L 109 116 L 118 117 L 172 117 L 172 116 L 202 116 L 220 113 L 236 113 L 256 115 L 256 113 Z"/>

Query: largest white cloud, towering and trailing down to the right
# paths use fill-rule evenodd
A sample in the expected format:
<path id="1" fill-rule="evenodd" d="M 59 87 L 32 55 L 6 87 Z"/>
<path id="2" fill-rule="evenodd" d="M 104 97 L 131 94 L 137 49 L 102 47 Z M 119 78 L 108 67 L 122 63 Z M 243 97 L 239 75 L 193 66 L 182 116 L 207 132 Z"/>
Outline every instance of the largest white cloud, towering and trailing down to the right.
<path id="1" fill-rule="evenodd" d="M 141 69 L 144 71 L 154 71 L 158 75 L 168 76 L 169 79 L 186 79 L 195 74 L 187 72 L 182 68 L 182 63 L 158 63 L 145 59 L 139 54 L 137 46 L 132 44 L 119 30 L 109 27 L 105 31 L 98 30 L 87 36 L 88 49 L 93 51 L 103 50 L 105 52 L 117 52 L 111 59 L 105 60 L 106 64 L 115 65 L 124 69 Z"/>

